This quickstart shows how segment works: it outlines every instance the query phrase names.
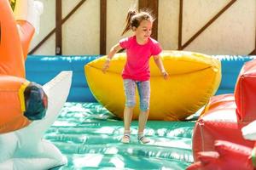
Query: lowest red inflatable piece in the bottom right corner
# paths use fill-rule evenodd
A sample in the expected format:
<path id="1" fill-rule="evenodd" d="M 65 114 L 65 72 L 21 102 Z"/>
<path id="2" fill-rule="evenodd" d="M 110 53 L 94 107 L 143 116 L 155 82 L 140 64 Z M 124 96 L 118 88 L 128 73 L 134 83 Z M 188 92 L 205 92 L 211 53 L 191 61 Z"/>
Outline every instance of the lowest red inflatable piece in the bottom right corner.
<path id="1" fill-rule="evenodd" d="M 251 148 L 221 140 L 214 146 L 217 151 L 199 152 L 187 170 L 253 170 Z"/>

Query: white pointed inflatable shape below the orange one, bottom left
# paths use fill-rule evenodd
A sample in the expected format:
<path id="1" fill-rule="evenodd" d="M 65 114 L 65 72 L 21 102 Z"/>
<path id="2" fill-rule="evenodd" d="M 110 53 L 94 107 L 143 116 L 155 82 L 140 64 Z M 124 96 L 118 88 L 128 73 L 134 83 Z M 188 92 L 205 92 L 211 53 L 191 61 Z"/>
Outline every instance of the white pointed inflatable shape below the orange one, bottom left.
<path id="1" fill-rule="evenodd" d="M 48 110 L 44 119 L 34 121 L 15 132 L 0 135 L 0 169 L 45 170 L 67 163 L 61 151 L 44 140 L 43 136 L 66 102 L 71 82 L 72 71 L 61 71 L 43 87 L 48 95 Z"/>

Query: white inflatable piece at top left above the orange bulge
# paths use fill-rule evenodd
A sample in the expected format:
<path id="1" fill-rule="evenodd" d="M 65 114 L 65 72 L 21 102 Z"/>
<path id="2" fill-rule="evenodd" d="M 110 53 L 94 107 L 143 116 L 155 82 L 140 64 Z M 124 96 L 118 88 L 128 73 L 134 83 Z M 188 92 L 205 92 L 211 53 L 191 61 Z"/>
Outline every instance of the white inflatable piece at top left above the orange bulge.
<path id="1" fill-rule="evenodd" d="M 15 5 L 15 20 L 26 20 L 36 33 L 40 29 L 40 15 L 43 14 L 44 4 L 34 0 L 17 0 Z"/>

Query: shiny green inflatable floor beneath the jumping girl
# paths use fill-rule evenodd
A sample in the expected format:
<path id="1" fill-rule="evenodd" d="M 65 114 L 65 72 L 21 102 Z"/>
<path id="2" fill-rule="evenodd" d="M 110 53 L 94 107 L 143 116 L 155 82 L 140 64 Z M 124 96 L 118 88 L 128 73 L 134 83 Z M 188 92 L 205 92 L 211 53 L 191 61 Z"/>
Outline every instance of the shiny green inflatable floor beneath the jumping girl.
<path id="1" fill-rule="evenodd" d="M 53 169 L 185 169 L 193 162 L 195 122 L 148 121 L 149 144 L 137 142 L 137 121 L 131 143 L 122 144 L 123 121 L 97 103 L 66 103 L 44 135 L 67 156 L 66 166 Z"/>

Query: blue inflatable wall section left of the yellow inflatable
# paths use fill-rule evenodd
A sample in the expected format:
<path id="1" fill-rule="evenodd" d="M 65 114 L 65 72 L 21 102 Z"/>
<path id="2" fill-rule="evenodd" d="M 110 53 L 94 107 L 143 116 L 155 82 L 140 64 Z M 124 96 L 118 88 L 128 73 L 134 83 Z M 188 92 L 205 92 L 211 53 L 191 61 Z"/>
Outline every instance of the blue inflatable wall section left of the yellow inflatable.
<path id="1" fill-rule="evenodd" d="M 84 77 L 84 65 L 98 57 L 100 56 L 28 55 L 26 59 L 26 79 L 44 84 L 45 82 L 49 82 L 49 80 L 61 71 L 73 71 L 72 87 L 67 101 L 96 102 L 96 99 L 90 93 L 90 88 Z"/>

